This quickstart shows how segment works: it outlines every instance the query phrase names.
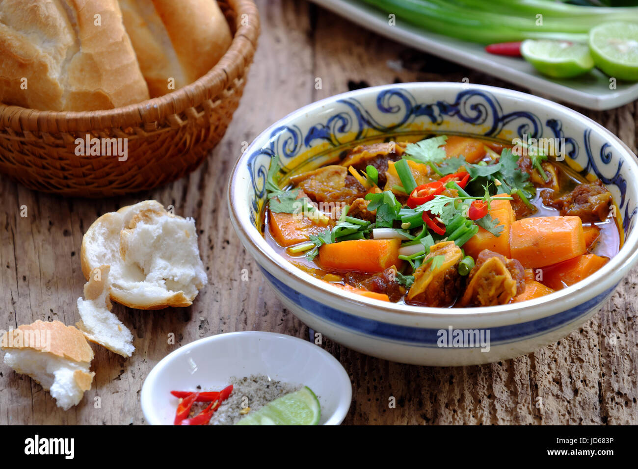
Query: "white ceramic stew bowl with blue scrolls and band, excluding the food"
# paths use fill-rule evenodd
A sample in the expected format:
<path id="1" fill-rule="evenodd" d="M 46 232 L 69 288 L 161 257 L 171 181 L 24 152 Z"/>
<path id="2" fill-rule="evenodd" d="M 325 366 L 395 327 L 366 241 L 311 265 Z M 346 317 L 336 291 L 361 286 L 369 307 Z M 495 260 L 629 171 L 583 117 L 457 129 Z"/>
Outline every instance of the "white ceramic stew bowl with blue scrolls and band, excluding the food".
<path id="1" fill-rule="evenodd" d="M 343 292 L 293 267 L 263 239 L 271 156 L 278 156 L 283 171 L 292 174 L 358 143 L 425 133 L 510 142 L 516 137 L 560 139 L 565 162 L 584 177 L 597 177 L 611 191 L 625 233 L 618 255 L 583 281 L 539 299 L 484 308 L 424 308 Z M 332 96 L 272 124 L 237 161 L 228 203 L 242 244 L 284 306 L 309 327 L 375 357 L 461 366 L 538 350 L 600 309 L 637 260 L 637 175 L 635 156 L 621 140 L 567 107 L 497 87 L 409 83 Z M 455 342 L 459 334 L 464 340 Z"/>

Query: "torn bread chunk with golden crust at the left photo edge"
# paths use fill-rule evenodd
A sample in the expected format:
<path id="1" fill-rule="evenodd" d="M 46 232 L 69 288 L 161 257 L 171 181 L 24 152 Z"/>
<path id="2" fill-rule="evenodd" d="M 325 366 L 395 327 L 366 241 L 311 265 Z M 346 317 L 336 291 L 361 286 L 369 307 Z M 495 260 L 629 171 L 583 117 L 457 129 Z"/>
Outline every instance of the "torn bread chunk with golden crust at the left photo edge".
<path id="1" fill-rule="evenodd" d="M 40 383 L 64 410 L 78 405 L 91 389 L 93 350 L 73 326 L 59 321 L 23 324 L 6 332 L 0 346 L 6 352 L 4 362 Z"/>

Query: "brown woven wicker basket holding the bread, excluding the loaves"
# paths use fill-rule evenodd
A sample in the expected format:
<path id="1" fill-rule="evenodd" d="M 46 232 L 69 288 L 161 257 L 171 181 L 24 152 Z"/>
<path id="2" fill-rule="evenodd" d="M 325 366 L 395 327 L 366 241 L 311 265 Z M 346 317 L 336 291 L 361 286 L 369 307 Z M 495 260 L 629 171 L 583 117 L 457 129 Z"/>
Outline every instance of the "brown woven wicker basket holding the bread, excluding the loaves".
<path id="1" fill-rule="evenodd" d="M 174 181 L 204 161 L 239 105 L 259 34 L 251 0 L 220 0 L 232 44 L 204 77 L 159 98 L 91 112 L 0 104 L 0 172 L 28 188 L 108 197 Z M 126 139 L 127 158 L 78 156 L 76 139 Z M 122 140 L 123 142 L 123 140 Z"/>

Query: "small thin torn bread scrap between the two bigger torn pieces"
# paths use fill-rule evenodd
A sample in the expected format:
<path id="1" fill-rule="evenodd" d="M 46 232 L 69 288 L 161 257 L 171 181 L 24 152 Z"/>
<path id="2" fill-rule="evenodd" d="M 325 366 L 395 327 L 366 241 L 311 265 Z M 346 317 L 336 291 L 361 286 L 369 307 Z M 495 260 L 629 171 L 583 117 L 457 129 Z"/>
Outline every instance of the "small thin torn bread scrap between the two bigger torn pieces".
<path id="1" fill-rule="evenodd" d="M 89 281 L 84 285 L 84 298 L 78 298 L 82 320 L 75 325 L 91 342 L 122 357 L 130 357 L 135 352 L 133 334 L 111 313 L 109 271 L 108 265 L 100 265 L 89 274 Z"/>

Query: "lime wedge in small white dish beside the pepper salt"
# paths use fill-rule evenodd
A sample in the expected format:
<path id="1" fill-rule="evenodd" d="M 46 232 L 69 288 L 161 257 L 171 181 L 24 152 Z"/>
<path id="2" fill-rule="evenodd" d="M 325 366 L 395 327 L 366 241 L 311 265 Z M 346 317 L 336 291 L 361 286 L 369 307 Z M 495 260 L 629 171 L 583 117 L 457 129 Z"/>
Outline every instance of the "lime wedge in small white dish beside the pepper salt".
<path id="1" fill-rule="evenodd" d="M 320 417 L 319 400 L 306 386 L 249 413 L 235 425 L 318 425 Z"/>

